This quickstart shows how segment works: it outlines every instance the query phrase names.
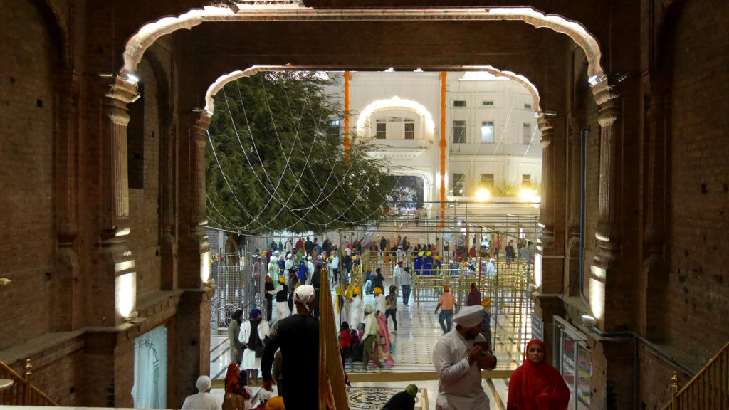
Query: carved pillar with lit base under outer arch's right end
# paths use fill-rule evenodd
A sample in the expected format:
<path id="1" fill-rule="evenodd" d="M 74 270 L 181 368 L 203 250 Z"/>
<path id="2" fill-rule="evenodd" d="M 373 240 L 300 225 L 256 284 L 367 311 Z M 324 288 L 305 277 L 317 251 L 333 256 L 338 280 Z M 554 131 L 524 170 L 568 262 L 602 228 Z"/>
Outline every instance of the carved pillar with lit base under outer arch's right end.
<path id="1" fill-rule="evenodd" d="M 620 263 L 620 175 L 622 136 L 620 134 L 621 101 L 616 80 L 608 79 L 595 86 L 599 105 L 600 179 L 596 255 L 590 267 L 590 309 L 605 326 L 607 278 Z M 608 326 L 609 328 L 609 326 Z"/>

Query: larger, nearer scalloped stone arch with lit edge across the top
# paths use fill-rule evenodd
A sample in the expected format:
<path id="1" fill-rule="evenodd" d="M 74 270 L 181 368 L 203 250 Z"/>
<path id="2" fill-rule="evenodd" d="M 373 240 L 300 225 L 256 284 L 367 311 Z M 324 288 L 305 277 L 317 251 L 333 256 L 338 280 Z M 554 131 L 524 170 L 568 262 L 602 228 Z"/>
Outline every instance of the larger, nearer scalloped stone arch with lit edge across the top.
<path id="1" fill-rule="evenodd" d="M 512 20 L 523 21 L 535 28 L 551 30 L 569 36 L 587 55 L 590 78 L 597 81 L 607 76 L 601 66 L 600 46 L 580 23 L 560 15 L 545 15 L 531 7 L 491 8 L 388 8 L 388 9 L 313 9 L 301 7 L 299 1 L 248 7 L 241 4 L 238 12 L 227 6 L 206 6 L 191 9 L 177 17 L 160 18 L 142 26 L 125 45 L 122 77 L 134 77 L 141 56 L 161 36 L 181 29 L 190 29 L 211 21 L 321 21 L 321 20 Z M 596 91 L 597 92 L 597 91 Z"/>

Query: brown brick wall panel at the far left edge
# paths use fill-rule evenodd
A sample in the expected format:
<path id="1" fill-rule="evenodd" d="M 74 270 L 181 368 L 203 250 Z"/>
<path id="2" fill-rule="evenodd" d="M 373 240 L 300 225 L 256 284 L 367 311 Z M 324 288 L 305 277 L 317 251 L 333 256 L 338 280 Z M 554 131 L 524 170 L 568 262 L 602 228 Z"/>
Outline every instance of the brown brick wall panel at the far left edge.
<path id="1" fill-rule="evenodd" d="M 52 252 L 52 58 L 39 11 L 0 3 L 0 350 L 49 328 Z M 8 330 L 13 329 L 12 332 Z"/>

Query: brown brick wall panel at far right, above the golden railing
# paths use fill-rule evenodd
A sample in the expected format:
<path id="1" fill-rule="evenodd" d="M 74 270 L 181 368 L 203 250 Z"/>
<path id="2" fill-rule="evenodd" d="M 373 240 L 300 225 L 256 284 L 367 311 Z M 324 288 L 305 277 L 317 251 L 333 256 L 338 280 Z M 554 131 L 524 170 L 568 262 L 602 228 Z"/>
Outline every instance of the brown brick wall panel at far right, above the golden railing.
<path id="1" fill-rule="evenodd" d="M 703 363 L 729 341 L 729 3 L 686 3 L 673 47 L 666 311 L 674 346 Z"/>

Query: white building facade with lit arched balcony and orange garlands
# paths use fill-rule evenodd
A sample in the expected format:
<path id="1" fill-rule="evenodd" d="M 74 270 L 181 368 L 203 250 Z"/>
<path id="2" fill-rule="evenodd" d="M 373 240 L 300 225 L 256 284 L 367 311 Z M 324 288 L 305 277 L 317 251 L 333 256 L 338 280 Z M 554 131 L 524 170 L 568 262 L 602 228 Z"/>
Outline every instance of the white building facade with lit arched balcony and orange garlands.
<path id="1" fill-rule="evenodd" d="M 372 155 L 388 158 L 391 174 L 422 179 L 425 209 L 440 201 L 440 90 L 437 72 L 352 72 L 349 82 L 351 131 L 376 139 Z M 539 189 L 537 109 L 508 77 L 446 74 L 446 201 L 483 200 L 488 190 L 490 201 L 518 202 Z"/>

